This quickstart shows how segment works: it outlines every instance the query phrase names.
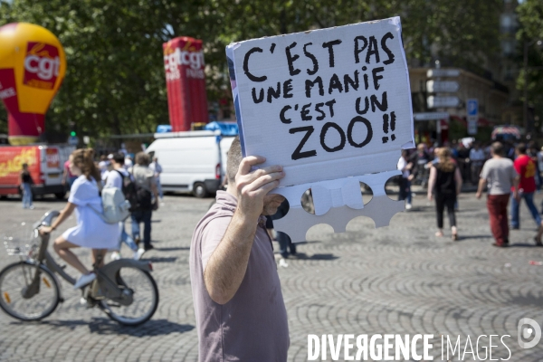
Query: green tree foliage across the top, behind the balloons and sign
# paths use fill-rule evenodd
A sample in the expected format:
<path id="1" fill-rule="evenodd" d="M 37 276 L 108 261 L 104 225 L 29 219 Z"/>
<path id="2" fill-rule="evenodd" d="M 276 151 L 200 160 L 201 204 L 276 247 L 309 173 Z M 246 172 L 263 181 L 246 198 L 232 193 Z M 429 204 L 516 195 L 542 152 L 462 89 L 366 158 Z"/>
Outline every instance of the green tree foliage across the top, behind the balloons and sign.
<path id="1" fill-rule="evenodd" d="M 67 131 L 73 122 L 78 134 L 106 137 L 151 132 L 168 123 L 162 43 L 176 36 L 204 41 L 208 98 L 217 100 L 229 91 L 224 47 L 233 41 L 400 15 L 410 59 L 429 63 L 434 49 L 440 59 L 476 62 L 497 49 L 500 5 L 500 0 L 14 0 L 0 6 L 0 25 L 43 25 L 65 48 L 66 79 L 47 128 Z"/>

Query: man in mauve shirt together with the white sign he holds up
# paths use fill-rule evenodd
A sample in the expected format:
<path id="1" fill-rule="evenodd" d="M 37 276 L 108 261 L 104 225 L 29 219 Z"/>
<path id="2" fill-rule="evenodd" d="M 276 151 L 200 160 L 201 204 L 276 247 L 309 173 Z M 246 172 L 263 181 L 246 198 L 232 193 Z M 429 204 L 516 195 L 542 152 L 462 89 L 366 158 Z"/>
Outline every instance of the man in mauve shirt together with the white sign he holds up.
<path id="1" fill-rule="evenodd" d="M 364 214 L 384 226 L 404 209 L 384 188 L 399 175 L 400 150 L 414 147 L 401 37 L 395 17 L 226 48 L 240 140 L 228 153 L 228 189 L 191 243 L 200 360 L 286 360 L 287 315 L 263 217 L 285 198 L 291 208 L 276 226 L 295 243 L 313 224 L 345 230 Z M 374 191 L 367 205 L 360 182 Z M 308 189 L 315 214 L 300 205 Z"/>

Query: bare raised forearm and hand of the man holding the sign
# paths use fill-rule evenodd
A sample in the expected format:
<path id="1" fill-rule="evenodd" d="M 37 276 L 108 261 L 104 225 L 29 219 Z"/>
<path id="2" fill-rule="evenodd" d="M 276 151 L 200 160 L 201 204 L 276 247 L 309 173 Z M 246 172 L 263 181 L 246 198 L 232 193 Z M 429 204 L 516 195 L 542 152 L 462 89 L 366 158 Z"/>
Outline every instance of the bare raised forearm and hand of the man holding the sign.
<path id="1" fill-rule="evenodd" d="M 245 157 L 235 176 L 238 205 L 232 221 L 212 253 L 204 271 L 205 288 L 214 302 L 225 304 L 232 300 L 242 284 L 258 218 L 262 214 L 264 196 L 279 186 L 284 176 L 282 167 L 271 166 L 251 172 L 262 164 L 264 157 Z M 233 185 L 229 185 L 233 190 Z"/>

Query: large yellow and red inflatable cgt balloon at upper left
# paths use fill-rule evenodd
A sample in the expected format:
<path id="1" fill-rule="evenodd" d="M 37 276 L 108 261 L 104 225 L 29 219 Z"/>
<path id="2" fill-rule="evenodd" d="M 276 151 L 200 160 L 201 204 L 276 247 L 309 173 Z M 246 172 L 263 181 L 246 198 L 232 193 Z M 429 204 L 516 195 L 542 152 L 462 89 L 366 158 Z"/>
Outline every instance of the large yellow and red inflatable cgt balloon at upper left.
<path id="1" fill-rule="evenodd" d="M 38 140 L 65 73 L 64 50 L 50 31 L 28 23 L 0 27 L 0 99 L 9 113 L 12 145 Z"/>

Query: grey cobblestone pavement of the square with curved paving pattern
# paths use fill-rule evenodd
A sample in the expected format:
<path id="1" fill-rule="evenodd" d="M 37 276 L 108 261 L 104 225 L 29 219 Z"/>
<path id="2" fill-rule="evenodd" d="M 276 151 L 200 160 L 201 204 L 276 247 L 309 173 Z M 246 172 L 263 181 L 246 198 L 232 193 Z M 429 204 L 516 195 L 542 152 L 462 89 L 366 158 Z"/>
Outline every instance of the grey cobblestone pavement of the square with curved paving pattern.
<path id="1" fill-rule="evenodd" d="M 210 203 L 170 195 L 154 214 L 156 249 L 144 258 L 154 264 L 160 304 L 148 323 L 119 327 L 100 310 L 81 306 L 78 293 L 62 281 L 66 300 L 47 319 L 24 323 L 0 312 L 0 361 L 197 360 L 188 253 L 193 228 Z M 62 205 L 39 201 L 31 211 L 1 201 L 0 225 L 34 221 Z M 543 261 L 543 248 L 533 246 L 528 210 L 522 206 L 522 230 L 511 233 L 512 247 L 498 249 L 491 246 L 484 202 L 462 195 L 460 207 L 460 242 L 452 242 L 450 233 L 433 236 L 433 206 L 421 195 L 413 210 L 396 214 L 385 228 L 374 229 L 366 218 L 351 221 L 347 233 L 314 226 L 310 242 L 298 248 L 300 256 L 279 268 L 291 330 L 289 360 L 307 360 L 308 334 L 420 333 L 434 335 L 434 360 L 441 360 L 441 335 L 454 341 L 460 335 L 463 351 L 468 336 L 476 349 L 476 338 L 484 334 L 510 335 L 504 339 L 510 361 L 542 361 L 543 341 L 531 349 L 517 343 L 519 319 L 543 324 L 543 266 L 529 264 Z M 78 253 L 89 260 L 88 252 Z M 0 267 L 9 262 L 0 250 Z M 500 346 L 493 348 L 493 359 L 508 357 L 499 339 L 492 344 Z M 488 347 L 482 338 L 481 359 Z M 471 354 L 463 359 L 473 360 Z"/>

